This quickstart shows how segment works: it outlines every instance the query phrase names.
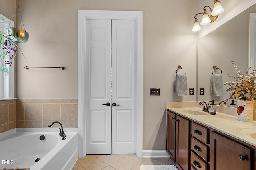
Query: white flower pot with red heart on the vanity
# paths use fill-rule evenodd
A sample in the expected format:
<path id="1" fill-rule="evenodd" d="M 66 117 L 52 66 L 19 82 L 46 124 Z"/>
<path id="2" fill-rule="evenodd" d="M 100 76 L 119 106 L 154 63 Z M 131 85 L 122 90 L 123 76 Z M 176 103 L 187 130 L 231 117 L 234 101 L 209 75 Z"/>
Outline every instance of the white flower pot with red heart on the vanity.
<path id="1" fill-rule="evenodd" d="M 237 115 L 239 121 L 252 122 L 253 121 L 253 101 L 252 100 L 237 100 Z"/>

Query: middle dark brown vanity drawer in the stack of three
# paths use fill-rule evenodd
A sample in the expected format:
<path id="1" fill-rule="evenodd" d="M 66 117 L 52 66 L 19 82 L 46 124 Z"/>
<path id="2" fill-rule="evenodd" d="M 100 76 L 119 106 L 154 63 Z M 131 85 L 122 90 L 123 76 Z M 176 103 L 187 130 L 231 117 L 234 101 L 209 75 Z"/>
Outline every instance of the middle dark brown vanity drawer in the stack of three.
<path id="1" fill-rule="evenodd" d="M 191 150 L 193 150 L 196 154 L 201 156 L 206 162 L 208 162 L 209 156 L 209 147 L 207 145 L 204 145 L 200 141 L 194 139 L 194 137 L 191 138 Z"/>

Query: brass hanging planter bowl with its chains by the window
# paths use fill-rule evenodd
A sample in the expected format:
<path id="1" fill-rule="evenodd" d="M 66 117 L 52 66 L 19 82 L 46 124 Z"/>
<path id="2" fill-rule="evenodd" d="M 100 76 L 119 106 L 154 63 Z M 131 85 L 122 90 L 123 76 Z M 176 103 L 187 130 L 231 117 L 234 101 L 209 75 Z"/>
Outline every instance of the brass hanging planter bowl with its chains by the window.
<path id="1" fill-rule="evenodd" d="M 28 32 L 25 30 L 25 26 L 24 26 L 24 23 L 23 23 L 23 20 L 22 20 L 22 16 L 21 16 L 21 13 L 20 13 L 20 0 L 17 1 L 17 9 L 14 12 L 14 15 L 13 15 L 11 21 L 13 21 L 13 18 L 15 16 L 17 10 L 19 12 L 20 28 L 22 27 L 21 26 L 21 23 L 22 23 L 24 30 L 18 29 L 18 28 L 10 28 L 10 32 L 11 32 L 12 36 L 14 36 L 14 41 L 16 43 L 26 43 L 28 41 L 29 35 L 28 35 Z M 9 24 L 9 26 L 10 26 L 10 24 Z"/>

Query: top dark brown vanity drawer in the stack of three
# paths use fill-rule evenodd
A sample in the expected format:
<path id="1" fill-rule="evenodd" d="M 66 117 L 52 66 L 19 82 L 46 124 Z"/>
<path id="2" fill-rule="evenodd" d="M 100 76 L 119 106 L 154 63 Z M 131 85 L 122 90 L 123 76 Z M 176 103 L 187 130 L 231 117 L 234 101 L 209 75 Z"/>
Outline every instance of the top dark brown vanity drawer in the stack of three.
<path id="1" fill-rule="evenodd" d="M 208 128 L 198 125 L 194 122 L 191 123 L 191 135 L 199 139 L 200 141 L 208 144 L 209 143 L 209 134 Z"/>

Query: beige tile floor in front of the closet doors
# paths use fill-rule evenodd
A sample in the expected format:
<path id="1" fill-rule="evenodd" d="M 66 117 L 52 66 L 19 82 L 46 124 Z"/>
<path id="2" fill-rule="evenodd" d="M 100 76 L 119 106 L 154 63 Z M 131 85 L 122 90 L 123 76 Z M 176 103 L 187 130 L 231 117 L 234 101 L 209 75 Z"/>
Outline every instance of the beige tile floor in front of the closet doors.
<path id="1" fill-rule="evenodd" d="M 86 155 L 72 170 L 140 170 L 140 165 L 172 165 L 168 158 L 138 158 L 136 154 Z"/>

